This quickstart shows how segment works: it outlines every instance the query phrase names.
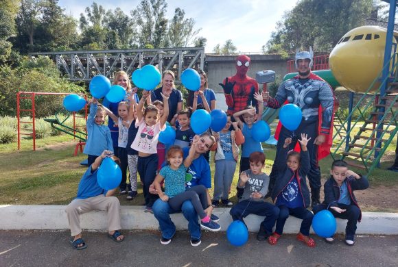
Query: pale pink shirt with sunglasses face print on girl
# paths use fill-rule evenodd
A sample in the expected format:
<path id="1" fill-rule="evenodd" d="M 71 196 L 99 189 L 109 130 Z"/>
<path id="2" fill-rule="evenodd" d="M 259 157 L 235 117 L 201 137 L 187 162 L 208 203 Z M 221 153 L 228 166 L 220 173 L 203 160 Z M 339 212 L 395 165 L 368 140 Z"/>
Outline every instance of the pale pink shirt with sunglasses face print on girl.
<path id="1" fill-rule="evenodd" d="M 143 153 L 156 154 L 159 133 L 166 129 L 166 125 L 163 125 L 161 129 L 161 122 L 159 121 L 153 126 L 148 126 L 144 118 L 142 118 L 140 121 L 138 119 L 135 120 L 135 127 L 138 127 L 138 132 L 131 144 L 131 148 Z"/>

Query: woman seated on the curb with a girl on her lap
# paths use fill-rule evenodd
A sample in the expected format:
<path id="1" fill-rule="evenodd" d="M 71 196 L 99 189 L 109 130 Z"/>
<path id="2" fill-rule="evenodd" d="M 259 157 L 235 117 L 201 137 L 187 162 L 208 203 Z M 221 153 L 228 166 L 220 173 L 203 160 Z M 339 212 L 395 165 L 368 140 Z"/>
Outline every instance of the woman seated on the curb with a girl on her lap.
<path id="1" fill-rule="evenodd" d="M 195 139 L 195 153 L 191 166 L 189 166 L 187 170 L 187 173 L 190 174 L 189 176 L 191 176 L 191 180 L 187 182 L 187 190 L 198 185 L 202 185 L 205 188 L 211 188 L 210 166 L 202 154 L 209 151 L 209 149 L 215 143 L 215 138 L 211 136 L 210 133 L 204 132 L 200 136 L 195 136 Z M 189 154 L 189 147 L 185 147 L 183 152 L 184 158 L 187 157 Z M 157 191 L 154 189 L 153 185 L 150 186 L 150 192 L 152 194 L 157 194 Z M 211 220 L 217 222 L 219 218 L 211 214 L 211 212 L 213 212 L 213 205 L 211 205 L 209 190 L 207 190 L 207 201 L 209 206 L 204 209 L 204 212 L 210 216 Z M 188 230 L 191 234 L 191 245 L 198 246 L 200 244 L 201 233 L 200 225 L 198 223 L 198 214 L 196 213 L 191 201 L 185 201 L 180 210 L 174 210 L 167 202 L 158 199 L 152 206 L 152 210 L 154 212 L 155 218 L 159 221 L 162 234 L 161 244 L 169 244 L 169 242 L 172 241 L 172 237 L 174 236 L 174 233 L 176 233 L 176 226 L 172 222 L 169 214 L 174 214 L 177 212 L 182 212 L 185 218 L 189 221 Z"/>

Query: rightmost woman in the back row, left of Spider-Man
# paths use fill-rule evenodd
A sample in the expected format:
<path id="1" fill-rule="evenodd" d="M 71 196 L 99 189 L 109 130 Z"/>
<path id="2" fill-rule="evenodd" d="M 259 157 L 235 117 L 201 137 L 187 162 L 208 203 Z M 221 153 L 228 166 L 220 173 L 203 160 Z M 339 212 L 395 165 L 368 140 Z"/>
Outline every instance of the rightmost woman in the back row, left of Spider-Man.
<path id="1" fill-rule="evenodd" d="M 215 110 L 216 106 L 216 100 L 215 100 L 215 93 L 213 89 L 207 88 L 207 74 L 199 70 L 198 71 L 200 75 L 200 89 L 197 92 L 189 91 L 188 95 L 188 106 L 192 107 L 194 110 L 196 110 L 196 107 L 194 107 L 194 98 L 198 99 L 197 104 L 198 105 L 204 105 L 203 103 L 203 98 L 206 99 L 207 104 L 210 107 L 210 110 Z"/>

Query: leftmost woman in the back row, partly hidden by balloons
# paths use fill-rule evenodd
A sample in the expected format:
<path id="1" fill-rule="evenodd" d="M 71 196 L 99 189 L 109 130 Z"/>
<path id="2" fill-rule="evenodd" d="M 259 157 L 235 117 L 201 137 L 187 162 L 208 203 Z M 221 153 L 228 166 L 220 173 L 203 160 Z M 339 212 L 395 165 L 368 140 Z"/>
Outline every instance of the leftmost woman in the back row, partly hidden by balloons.
<path id="1" fill-rule="evenodd" d="M 124 97 L 124 101 L 128 101 L 128 96 L 130 94 L 135 94 L 137 92 L 137 88 L 135 87 L 132 88 L 130 79 L 128 78 L 127 73 L 124 71 L 118 71 L 117 73 L 115 73 L 115 79 L 113 79 L 113 84 L 121 86 L 124 88 L 124 90 L 126 90 L 126 97 Z M 138 95 L 135 94 L 134 97 L 135 101 L 138 103 L 139 102 Z M 116 116 L 119 116 L 117 112 L 117 107 L 119 106 L 119 102 L 112 103 L 108 101 L 108 99 L 106 99 L 105 97 L 104 101 L 102 102 L 102 105 L 104 105 L 104 107 L 108 107 L 108 109 L 111 112 L 113 112 L 113 114 L 115 114 Z M 112 137 L 113 141 L 113 151 L 115 151 L 115 155 L 118 156 L 117 138 L 119 137 L 119 127 L 115 126 L 115 122 L 111 118 L 108 118 L 108 127 L 110 129 L 110 136 Z"/>

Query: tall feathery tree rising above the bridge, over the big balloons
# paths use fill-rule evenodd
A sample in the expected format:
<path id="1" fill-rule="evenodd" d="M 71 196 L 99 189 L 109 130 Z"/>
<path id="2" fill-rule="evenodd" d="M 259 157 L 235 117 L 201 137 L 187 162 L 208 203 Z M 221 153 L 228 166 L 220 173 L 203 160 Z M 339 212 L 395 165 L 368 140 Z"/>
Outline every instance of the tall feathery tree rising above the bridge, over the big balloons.
<path id="1" fill-rule="evenodd" d="M 167 19 L 165 0 L 142 0 L 131 15 L 137 22 L 139 31 L 139 44 L 151 44 L 160 47 L 167 32 Z"/>

